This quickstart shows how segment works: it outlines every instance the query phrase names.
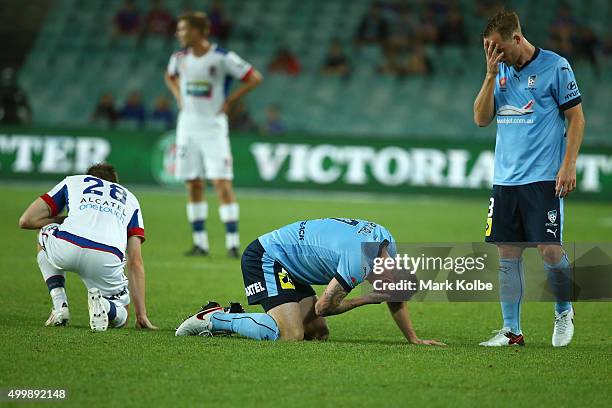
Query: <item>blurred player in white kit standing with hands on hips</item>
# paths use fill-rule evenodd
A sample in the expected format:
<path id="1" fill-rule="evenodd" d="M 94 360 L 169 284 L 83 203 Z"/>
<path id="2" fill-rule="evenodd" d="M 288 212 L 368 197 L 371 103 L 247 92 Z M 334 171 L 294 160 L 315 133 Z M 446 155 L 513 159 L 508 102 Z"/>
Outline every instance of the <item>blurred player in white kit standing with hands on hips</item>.
<path id="1" fill-rule="evenodd" d="M 187 218 L 193 248 L 187 255 L 207 255 L 205 180 L 212 180 L 219 198 L 219 216 L 225 224 L 225 245 L 231 257 L 240 256 L 239 207 L 232 180 L 232 152 L 227 112 L 244 94 L 262 82 L 261 74 L 236 53 L 208 40 L 210 23 L 202 12 L 178 19 L 180 51 L 172 54 L 165 73 L 168 88 L 180 109 L 177 128 L 176 174 L 187 185 Z M 228 94 L 233 79 L 242 85 Z"/>

